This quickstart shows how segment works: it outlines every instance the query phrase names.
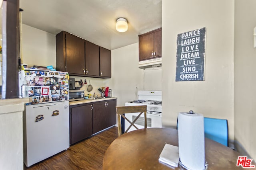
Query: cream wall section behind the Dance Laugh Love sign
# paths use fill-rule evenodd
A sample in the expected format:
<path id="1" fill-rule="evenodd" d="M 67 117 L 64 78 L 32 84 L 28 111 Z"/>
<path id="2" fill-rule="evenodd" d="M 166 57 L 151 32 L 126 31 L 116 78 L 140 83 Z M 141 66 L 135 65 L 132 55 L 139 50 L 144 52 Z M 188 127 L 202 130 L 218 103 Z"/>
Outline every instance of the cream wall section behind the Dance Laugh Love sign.
<path id="1" fill-rule="evenodd" d="M 175 82 L 177 34 L 206 27 L 205 81 Z M 234 0 L 162 1 L 162 123 L 179 111 L 228 119 L 234 140 Z"/>

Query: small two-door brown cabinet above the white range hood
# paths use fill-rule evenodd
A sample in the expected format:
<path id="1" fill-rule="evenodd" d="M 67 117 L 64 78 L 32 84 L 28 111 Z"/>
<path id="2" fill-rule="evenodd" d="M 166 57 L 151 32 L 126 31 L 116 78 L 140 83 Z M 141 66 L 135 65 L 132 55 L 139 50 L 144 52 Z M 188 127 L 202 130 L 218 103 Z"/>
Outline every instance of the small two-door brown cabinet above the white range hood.
<path id="1" fill-rule="evenodd" d="M 162 28 L 139 35 L 139 61 L 162 57 Z"/>

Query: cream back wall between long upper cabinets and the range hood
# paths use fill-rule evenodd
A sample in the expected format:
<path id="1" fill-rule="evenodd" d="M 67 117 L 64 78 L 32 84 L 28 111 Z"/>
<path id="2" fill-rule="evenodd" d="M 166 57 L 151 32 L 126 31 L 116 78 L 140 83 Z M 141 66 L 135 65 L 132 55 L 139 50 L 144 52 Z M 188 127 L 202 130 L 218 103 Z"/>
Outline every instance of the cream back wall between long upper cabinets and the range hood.
<path id="1" fill-rule="evenodd" d="M 136 91 L 144 88 L 144 70 L 138 68 L 138 48 L 138 43 L 134 43 L 111 51 L 112 78 L 108 84 L 118 98 L 117 106 L 137 99 Z"/>

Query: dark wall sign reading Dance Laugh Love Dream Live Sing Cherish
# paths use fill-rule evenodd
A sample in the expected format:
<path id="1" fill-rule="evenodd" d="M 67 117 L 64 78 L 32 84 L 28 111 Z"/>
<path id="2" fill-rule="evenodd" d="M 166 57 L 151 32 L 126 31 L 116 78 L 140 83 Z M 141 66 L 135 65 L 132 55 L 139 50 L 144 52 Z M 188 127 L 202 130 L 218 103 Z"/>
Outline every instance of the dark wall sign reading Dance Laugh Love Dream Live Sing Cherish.
<path id="1" fill-rule="evenodd" d="M 177 35 L 177 81 L 203 81 L 206 27 Z"/>

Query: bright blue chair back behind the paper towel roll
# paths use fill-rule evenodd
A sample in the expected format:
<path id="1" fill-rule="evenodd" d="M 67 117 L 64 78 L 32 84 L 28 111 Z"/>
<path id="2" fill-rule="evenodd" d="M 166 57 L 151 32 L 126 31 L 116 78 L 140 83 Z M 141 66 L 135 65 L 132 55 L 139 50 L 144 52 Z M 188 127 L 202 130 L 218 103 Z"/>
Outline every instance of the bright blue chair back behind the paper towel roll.
<path id="1" fill-rule="evenodd" d="M 204 117 L 204 137 L 228 147 L 228 121 Z"/>

